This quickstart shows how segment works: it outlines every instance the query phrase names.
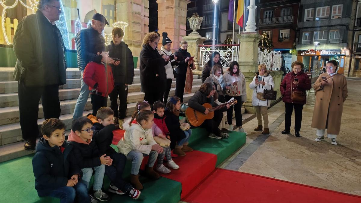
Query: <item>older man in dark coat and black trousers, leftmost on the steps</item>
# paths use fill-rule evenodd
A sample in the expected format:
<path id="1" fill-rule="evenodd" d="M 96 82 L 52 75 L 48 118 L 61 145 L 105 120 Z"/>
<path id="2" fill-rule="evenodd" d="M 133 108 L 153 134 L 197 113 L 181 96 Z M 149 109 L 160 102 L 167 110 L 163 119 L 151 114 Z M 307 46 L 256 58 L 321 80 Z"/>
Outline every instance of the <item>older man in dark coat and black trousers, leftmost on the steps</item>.
<path id="1" fill-rule="evenodd" d="M 38 9 L 19 21 L 13 44 L 17 57 L 13 78 L 18 81 L 25 150 L 35 149 L 40 98 L 45 120 L 59 118 L 59 85 L 66 83 L 65 46 L 55 25 L 61 13 L 60 2 L 39 1 Z"/>

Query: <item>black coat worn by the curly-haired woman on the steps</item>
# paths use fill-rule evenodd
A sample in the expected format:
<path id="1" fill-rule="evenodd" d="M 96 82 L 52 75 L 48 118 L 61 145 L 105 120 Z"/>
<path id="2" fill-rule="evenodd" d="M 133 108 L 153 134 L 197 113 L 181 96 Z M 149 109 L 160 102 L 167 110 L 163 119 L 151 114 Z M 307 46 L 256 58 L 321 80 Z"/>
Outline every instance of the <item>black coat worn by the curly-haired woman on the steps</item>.
<path id="1" fill-rule="evenodd" d="M 157 49 L 149 44 L 140 51 L 140 90 L 142 92 L 163 92 L 166 88 L 166 74 L 164 66 L 168 64 L 159 55 Z M 156 76 L 158 74 L 158 77 Z"/>

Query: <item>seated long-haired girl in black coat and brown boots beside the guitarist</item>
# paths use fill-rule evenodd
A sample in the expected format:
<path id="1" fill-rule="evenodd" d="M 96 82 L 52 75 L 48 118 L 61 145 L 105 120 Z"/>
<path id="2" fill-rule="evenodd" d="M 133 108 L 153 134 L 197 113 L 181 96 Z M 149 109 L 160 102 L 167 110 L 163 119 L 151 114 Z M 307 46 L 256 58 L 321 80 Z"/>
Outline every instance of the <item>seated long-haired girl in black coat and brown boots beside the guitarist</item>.
<path id="1" fill-rule="evenodd" d="M 192 135 L 192 130 L 181 130 L 179 123 L 179 109 L 181 108 L 181 99 L 177 96 L 171 96 L 165 108 L 164 115 L 165 123 L 170 132 L 170 148 L 175 147 L 174 154 L 179 156 L 186 156 L 186 152 L 191 152 L 193 149 L 188 147 L 188 140 Z"/>

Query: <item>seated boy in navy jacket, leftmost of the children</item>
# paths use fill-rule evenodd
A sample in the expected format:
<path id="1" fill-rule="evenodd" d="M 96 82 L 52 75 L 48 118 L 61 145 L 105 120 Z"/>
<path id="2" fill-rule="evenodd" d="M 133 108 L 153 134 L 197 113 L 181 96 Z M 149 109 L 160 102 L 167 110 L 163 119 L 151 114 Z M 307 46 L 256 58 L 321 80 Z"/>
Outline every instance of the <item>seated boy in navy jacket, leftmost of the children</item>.
<path id="1" fill-rule="evenodd" d="M 73 146 L 65 141 L 65 124 L 58 118 L 43 122 L 43 137 L 32 158 L 38 195 L 60 198 L 60 202 L 90 202 L 87 186 L 79 182 L 81 170 L 75 163 Z"/>

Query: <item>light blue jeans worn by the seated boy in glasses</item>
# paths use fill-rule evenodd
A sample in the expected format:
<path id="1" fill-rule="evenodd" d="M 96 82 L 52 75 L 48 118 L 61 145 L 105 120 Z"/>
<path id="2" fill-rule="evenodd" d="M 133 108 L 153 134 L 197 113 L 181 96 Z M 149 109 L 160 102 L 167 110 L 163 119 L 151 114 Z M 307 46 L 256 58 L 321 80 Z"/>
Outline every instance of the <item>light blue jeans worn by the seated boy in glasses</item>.
<path id="1" fill-rule="evenodd" d="M 101 186 L 103 186 L 105 165 L 101 164 L 100 166 L 94 167 L 94 170 L 95 173 L 94 173 L 93 190 L 98 191 L 101 189 Z M 82 168 L 82 172 L 83 172 L 83 177 L 81 179 L 81 182 L 84 183 L 89 189 L 89 182 L 90 182 L 90 178 L 93 175 L 93 168 Z"/>

